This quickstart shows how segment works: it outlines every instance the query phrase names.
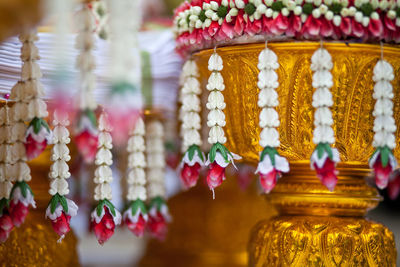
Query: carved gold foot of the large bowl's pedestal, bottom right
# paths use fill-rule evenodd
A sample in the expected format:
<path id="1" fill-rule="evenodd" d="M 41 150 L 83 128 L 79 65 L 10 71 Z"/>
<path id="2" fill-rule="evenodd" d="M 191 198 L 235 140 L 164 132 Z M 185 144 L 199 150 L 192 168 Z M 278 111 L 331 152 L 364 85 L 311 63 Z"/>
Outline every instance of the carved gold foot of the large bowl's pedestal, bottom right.
<path id="1" fill-rule="evenodd" d="M 282 216 L 258 223 L 250 266 L 395 266 L 393 234 L 363 218 Z"/>

